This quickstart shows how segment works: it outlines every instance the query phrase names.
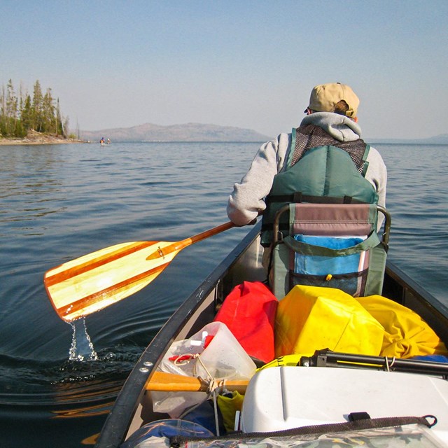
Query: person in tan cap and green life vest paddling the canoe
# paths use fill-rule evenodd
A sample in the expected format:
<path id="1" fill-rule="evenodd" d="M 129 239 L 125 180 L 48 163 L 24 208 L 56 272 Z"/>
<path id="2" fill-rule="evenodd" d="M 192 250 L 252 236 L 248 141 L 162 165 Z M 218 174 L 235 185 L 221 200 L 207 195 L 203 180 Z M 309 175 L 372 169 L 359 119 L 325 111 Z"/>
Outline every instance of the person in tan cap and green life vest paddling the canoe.
<path id="1" fill-rule="evenodd" d="M 230 220 L 236 225 L 246 225 L 262 214 L 262 231 L 264 230 L 262 244 L 269 246 L 269 229 L 272 229 L 273 221 L 272 211 L 269 213 L 269 204 L 275 202 L 273 195 L 269 193 L 274 179 L 276 179 L 275 197 L 280 197 L 282 193 L 284 195 L 291 193 L 291 188 L 297 192 L 306 191 L 307 195 L 319 196 L 323 193 L 313 191 L 311 186 L 315 183 L 316 177 L 320 176 L 318 173 L 325 173 L 325 176 L 328 176 L 325 181 L 345 183 L 347 196 L 363 202 L 376 202 L 385 207 L 386 165 L 379 152 L 360 138 L 358 106 L 359 99 L 348 85 L 341 83 L 316 85 L 311 91 L 309 105 L 304 111 L 306 116 L 300 126 L 293 129 L 290 134 L 279 134 L 275 139 L 263 144 L 241 182 L 235 183 L 227 207 Z M 358 172 L 355 173 L 355 177 L 359 174 L 360 179 L 353 180 L 353 177 L 348 179 L 346 176 L 344 179 L 344 173 L 347 171 L 343 166 L 322 166 L 328 162 L 325 156 L 315 159 L 320 160 L 318 166 L 302 169 L 301 165 L 304 164 L 300 162 L 304 156 L 319 147 L 339 148 L 332 151 L 342 150 L 348 153 L 350 158 L 342 158 L 348 160 L 344 161 L 344 164 L 354 164 Z M 297 172 L 295 185 L 286 186 L 285 183 L 283 187 L 279 176 L 293 167 L 294 172 Z M 353 171 L 353 167 L 349 167 L 350 169 Z M 279 192 L 282 188 L 285 191 Z M 360 197 L 357 198 L 359 192 Z M 379 217 L 378 229 L 381 223 L 382 215 Z"/>

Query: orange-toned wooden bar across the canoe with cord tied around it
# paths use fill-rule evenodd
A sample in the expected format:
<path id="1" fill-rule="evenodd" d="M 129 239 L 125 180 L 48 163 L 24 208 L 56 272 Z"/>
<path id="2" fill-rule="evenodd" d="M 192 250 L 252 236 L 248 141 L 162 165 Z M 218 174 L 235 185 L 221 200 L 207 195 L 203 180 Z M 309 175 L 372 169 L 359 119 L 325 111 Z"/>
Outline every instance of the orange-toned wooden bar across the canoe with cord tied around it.
<path id="1" fill-rule="evenodd" d="M 228 391 L 245 393 L 248 379 L 226 379 L 224 386 Z M 146 384 L 147 391 L 182 391 L 205 392 L 209 385 L 196 377 L 186 377 L 175 373 L 154 372 L 151 380 Z"/>

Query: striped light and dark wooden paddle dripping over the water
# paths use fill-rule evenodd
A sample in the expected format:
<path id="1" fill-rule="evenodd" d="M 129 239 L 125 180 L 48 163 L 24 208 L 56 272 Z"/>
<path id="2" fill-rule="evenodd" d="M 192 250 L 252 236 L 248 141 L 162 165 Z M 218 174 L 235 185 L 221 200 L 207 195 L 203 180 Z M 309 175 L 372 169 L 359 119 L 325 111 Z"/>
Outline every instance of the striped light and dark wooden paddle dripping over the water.
<path id="1" fill-rule="evenodd" d="M 229 221 L 177 242 L 116 244 L 50 269 L 43 283 L 59 317 L 71 322 L 137 293 L 184 247 L 232 227 Z"/>

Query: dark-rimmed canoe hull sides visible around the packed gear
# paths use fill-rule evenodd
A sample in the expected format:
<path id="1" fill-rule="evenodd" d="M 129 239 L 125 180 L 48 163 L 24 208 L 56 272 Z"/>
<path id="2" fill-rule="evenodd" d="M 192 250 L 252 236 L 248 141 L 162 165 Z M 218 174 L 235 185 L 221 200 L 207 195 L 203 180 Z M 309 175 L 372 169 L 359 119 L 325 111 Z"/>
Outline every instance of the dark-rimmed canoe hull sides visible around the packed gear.
<path id="1" fill-rule="evenodd" d="M 219 304 L 232 288 L 244 280 L 265 280 L 259 234 L 260 225 L 256 225 L 151 341 L 118 395 L 99 436 L 98 448 L 119 447 L 142 424 L 163 418 L 153 414 L 151 393 L 146 392 L 146 384 L 172 342 L 190 337 L 212 321 Z M 419 313 L 448 344 L 447 307 L 391 263 L 386 266 L 383 295 Z"/>

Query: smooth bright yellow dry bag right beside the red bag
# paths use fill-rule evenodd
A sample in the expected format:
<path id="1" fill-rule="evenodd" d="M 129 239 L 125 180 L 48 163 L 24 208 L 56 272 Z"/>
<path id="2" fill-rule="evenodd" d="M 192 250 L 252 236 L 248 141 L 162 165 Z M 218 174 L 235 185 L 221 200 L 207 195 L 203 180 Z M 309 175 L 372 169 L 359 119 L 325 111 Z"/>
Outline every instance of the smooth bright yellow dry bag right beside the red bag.
<path id="1" fill-rule="evenodd" d="M 279 301 L 275 353 L 283 356 L 330 349 L 378 356 L 384 328 L 351 295 L 336 288 L 295 286 Z"/>

